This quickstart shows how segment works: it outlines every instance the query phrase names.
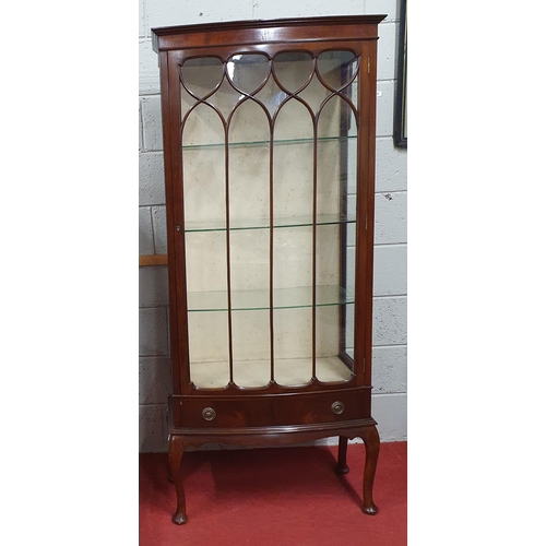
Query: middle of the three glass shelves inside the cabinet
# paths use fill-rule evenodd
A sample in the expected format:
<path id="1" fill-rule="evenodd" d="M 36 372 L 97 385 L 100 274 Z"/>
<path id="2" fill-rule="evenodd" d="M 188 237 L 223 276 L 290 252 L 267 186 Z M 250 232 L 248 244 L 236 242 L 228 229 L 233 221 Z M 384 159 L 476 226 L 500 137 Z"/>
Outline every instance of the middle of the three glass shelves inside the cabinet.
<path id="1" fill-rule="evenodd" d="M 333 224 L 352 224 L 356 222 L 355 214 L 320 214 L 317 215 L 317 225 L 325 226 Z M 273 227 L 304 227 L 312 226 L 312 216 L 274 217 Z M 229 229 L 266 229 L 270 227 L 270 218 L 230 219 Z M 186 233 L 193 232 L 225 232 L 225 218 L 216 221 L 187 222 Z"/>

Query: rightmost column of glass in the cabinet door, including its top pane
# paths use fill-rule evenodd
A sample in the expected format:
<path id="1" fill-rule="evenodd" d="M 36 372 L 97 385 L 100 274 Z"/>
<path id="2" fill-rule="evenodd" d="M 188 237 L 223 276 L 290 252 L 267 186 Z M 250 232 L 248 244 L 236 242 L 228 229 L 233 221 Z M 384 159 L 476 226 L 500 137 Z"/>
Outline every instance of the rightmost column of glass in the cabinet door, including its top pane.
<path id="1" fill-rule="evenodd" d="M 324 83 L 342 94 L 332 93 L 318 111 L 317 214 L 339 214 L 347 222 L 318 225 L 317 293 L 336 287 L 340 304 L 316 309 L 317 377 L 323 382 L 352 377 L 354 363 L 354 245 L 356 221 L 356 118 L 351 104 L 356 80 L 355 58 L 346 51 L 330 51 L 319 57 L 318 70 Z"/>

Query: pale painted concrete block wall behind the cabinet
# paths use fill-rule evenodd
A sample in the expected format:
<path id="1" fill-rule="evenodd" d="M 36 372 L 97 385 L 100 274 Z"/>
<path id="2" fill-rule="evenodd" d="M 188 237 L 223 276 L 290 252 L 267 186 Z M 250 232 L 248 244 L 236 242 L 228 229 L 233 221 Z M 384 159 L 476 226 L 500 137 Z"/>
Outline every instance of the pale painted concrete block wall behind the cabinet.
<path id="1" fill-rule="evenodd" d="M 382 441 L 406 439 L 407 167 L 392 141 L 396 0 L 140 0 L 139 235 L 141 254 L 165 253 L 165 190 L 159 70 L 152 50 L 155 26 L 292 16 L 387 14 L 379 25 L 377 86 L 376 247 L 373 287 L 373 417 Z M 168 286 L 165 265 L 140 268 L 140 451 L 163 452 L 166 402 L 171 392 Z M 330 441 L 319 443 L 331 443 Z"/>

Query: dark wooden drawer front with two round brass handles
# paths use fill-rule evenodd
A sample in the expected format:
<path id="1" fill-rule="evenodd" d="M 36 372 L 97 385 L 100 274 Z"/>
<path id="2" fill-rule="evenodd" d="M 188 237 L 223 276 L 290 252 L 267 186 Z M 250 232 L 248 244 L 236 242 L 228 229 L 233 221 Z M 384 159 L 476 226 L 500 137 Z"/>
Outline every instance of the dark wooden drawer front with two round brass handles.
<path id="1" fill-rule="evenodd" d="M 333 423 L 369 417 L 369 390 L 245 396 L 174 396 L 176 427 L 263 427 Z"/>

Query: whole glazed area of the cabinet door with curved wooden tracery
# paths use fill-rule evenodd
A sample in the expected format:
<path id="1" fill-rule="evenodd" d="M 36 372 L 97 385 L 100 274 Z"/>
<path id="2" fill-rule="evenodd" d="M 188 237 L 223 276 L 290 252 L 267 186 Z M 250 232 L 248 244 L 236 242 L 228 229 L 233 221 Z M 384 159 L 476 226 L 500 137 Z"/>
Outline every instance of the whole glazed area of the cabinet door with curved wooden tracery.
<path id="1" fill-rule="evenodd" d="M 359 66 L 343 48 L 183 55 L 195 387 L 353 377 Z"/>

